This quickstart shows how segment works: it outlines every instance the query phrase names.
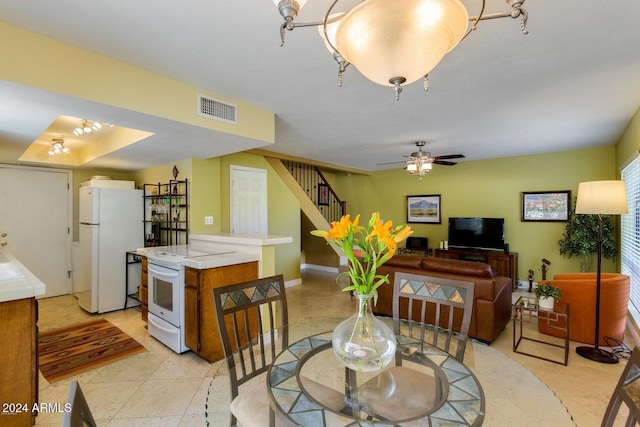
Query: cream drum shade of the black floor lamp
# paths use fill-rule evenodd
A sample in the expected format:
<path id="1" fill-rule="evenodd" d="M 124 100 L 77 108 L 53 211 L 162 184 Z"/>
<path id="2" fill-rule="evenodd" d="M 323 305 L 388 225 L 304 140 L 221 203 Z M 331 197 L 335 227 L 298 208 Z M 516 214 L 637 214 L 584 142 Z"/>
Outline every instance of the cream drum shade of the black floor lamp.
<path id="1" fill-rule="evenodd" d="M 628 213 L 623 181 L 588 181 L 578 185 L 577 214 L 619 215 Z"/>

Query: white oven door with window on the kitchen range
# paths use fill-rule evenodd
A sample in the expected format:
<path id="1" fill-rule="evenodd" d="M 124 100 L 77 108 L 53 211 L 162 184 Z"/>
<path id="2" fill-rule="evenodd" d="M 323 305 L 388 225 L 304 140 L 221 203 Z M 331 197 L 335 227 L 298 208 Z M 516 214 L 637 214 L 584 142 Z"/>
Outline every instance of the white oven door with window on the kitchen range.
<path id="1" fill-rule="evenodd" d="M 176 327 L 182 326 L 180 293 L 184 289 L 180 270 L 149 263 L 149 312 Z"/>

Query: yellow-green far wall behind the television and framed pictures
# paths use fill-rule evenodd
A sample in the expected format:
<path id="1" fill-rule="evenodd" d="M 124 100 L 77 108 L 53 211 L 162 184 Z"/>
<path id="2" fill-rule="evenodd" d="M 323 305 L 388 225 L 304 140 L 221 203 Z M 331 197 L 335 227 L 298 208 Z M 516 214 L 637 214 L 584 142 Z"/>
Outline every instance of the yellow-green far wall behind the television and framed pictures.
<path id="1" fill-rule="evenodd" d="M 347 200 L 348 212 L 368 217 L 380 211 L 385 220 L 406 223 L 408 195 L 441 195 L 441 224 L 411 224 L 415 236 L 429 238 L 437 248 L 447 240 L 449 217 L 505 218 L 505 240 L 518 253 L 518 276 L 527 271 L 541 278 L 542 258 L 551 261 L 549 274 L 579 271 L 577 258 L 558 252 L 565 223 L 522 222 L 522 192 L 570 190 L 575 199 L 581 181 L 616 179 L 614 146 L 531 156 L 460 162 L 453 167 L 435 166 L 422 180 L 402 169 L 376 172 L 370 176 L 341 174 L 336 177 L 338 194 Z M 572 200 L 573 202 L 573 200 Z M 615 263 L 605 262 L 605 271 Z"/>

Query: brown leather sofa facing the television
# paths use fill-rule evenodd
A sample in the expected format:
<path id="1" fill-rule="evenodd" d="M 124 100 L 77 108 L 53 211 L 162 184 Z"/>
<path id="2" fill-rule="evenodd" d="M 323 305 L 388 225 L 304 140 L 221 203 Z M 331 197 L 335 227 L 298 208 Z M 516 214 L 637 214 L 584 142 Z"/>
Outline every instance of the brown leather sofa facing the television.
<path id="1" fill-rule="evenodd" d="M 469 336 L 492 342 L 511 319 L 511 279 L 494 277 L 489 264 L 446 258 L 395 256 L 378 268 L 378 274 L 388 274 L 389 284 L 378 288 L 374 313 L 392 316 L 393 280 L 401 271 L 425 276 L 473 282 L 475 295 Z"/>

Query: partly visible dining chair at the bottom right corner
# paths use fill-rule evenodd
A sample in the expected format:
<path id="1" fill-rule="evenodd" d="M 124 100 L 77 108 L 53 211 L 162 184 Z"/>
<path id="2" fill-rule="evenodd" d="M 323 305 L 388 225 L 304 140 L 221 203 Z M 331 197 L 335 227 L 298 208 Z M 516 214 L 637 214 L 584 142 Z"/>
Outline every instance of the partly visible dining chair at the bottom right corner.
<path id="1" fill-rule="evenodd" d="M 640 420 L 640 347 L 633 349 L 627 366 L 620 375 L 604 413 L 602 427 L 610 427 L 615 424 L 616 416 L 623 402 L 629 409 L 625 426 L 635 426 L 636 422 Z"/>

